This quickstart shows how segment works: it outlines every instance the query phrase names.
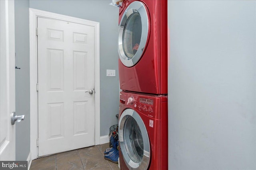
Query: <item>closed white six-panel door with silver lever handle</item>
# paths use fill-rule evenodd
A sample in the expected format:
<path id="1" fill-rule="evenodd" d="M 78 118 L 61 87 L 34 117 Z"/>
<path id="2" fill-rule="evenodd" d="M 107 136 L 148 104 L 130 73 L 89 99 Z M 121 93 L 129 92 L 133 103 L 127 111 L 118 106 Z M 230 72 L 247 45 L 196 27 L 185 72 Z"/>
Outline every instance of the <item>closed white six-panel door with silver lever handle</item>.
<path id="1" fill-rule="evenodd" d="M 37 21 L 38 156 L 92 146 L 94 27 Z"/>

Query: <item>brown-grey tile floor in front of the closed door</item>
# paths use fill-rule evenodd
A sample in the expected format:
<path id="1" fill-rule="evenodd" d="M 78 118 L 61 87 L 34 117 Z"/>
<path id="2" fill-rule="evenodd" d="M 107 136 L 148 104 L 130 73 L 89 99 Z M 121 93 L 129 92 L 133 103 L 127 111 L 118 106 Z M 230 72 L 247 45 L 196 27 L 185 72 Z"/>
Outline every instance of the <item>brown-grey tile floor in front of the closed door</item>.
<path id="1" fill-rule="evenodd" d="M 108 147 L 106 143 L 38 158 L 30 170 L 119 170 L 118 164 L 104 159 Z"/>

